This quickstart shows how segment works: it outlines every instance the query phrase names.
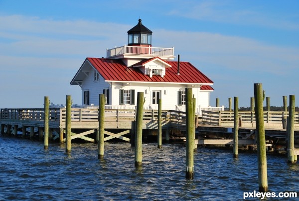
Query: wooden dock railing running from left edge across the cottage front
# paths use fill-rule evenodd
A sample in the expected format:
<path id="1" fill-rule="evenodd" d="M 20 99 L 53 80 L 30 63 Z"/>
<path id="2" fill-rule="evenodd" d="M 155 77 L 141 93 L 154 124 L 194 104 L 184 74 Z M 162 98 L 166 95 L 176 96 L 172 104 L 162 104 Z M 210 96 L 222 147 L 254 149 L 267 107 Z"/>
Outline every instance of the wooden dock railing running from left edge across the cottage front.
<path id="1" fill-rule="evenodd" d="M 97 122 L 98 109 L 94 108 L 71 108 L 72 122 Z M 136 120 L 136 109 L 105 109 L 105 121 L 132 122 Z M 43 108 L 5 108 L 0 109 L 0 119 L 9 120 L 34 120 L 44 121 Z M 49 121 L 65 122 L 66 108 L 50 108 Z M 157 110 L 144 110 L 143 121 L 150 122 L 158 119 Z M 185 112 L 175 110 L 162 110 L 162 120 L 178 124 L 185 124 Z"/>

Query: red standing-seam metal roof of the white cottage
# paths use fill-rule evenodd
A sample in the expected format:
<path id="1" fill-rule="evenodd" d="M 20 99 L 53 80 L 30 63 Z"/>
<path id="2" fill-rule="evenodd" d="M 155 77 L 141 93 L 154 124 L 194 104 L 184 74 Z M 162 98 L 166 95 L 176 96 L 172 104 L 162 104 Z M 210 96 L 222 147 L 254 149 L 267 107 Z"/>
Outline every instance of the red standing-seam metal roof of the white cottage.
<path id="1" fill-rule="evenodd" d="M 213 81 L 200 72 L 189 62 L 180 61 L 179 75 L 177 74 L 177 61 L 162 60 L 172 67 L 166 68 L 165 76 L 145 75 L 137 67 L 127 67 L 120 59 L 86 58 L 91 65 L 107 81 L 130 81 L 130 82 L 167 82 L 167 83 L 203 83 L 213 84 Z M 151 58 L 152 59 L 152 58 Z M 140 63 L 146 63 L 146 59 Z M 160 58 L 159 58 L 160 59 Z M 209 85 L 203 85 L 203 90 L 213 90 Z"/>

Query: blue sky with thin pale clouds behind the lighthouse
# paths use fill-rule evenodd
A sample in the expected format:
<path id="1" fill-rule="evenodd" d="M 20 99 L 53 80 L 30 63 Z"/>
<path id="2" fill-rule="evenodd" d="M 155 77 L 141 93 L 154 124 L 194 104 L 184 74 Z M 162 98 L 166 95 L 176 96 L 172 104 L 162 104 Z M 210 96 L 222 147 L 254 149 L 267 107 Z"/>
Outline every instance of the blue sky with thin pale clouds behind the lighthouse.
<path id="1" fill-rule="evenodd" d="M 70 81 L 83 61 L 127 44 L 139 18 L 152 46 L 214 82 L 211 106 L 250 107 L 254 83 L 271 106 L 299 99 L 299 0 L 0 0 L 0 108 L 81 105 Z"/>

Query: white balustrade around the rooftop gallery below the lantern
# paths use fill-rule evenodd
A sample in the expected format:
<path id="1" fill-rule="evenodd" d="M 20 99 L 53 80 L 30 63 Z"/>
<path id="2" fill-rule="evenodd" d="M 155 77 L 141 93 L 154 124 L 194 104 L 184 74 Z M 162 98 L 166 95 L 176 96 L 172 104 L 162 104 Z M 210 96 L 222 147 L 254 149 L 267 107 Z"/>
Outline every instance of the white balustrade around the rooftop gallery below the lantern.
<path id="1" fill-rule="evenodd" d="M 149 56 L 174 56 L 174 47 L 140 47 L 140 46 L 128 46 L 115 47 L 107 49 L 107 57 L 122 55 L 122 54 L 134 54 L 134 55 L 149 55 Z"/>

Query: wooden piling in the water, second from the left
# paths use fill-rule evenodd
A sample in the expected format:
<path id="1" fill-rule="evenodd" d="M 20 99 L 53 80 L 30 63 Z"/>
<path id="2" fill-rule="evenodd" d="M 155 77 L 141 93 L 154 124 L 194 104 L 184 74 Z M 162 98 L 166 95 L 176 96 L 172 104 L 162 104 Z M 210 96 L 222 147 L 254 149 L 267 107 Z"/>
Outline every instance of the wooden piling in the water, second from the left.
<path id="1" fill-rule="evenodd" d="M 66 96 L 66 112 L 65 112 L 65 152 L 70 153 L 72 149 L 71 140 L 71 96 Z"/>

